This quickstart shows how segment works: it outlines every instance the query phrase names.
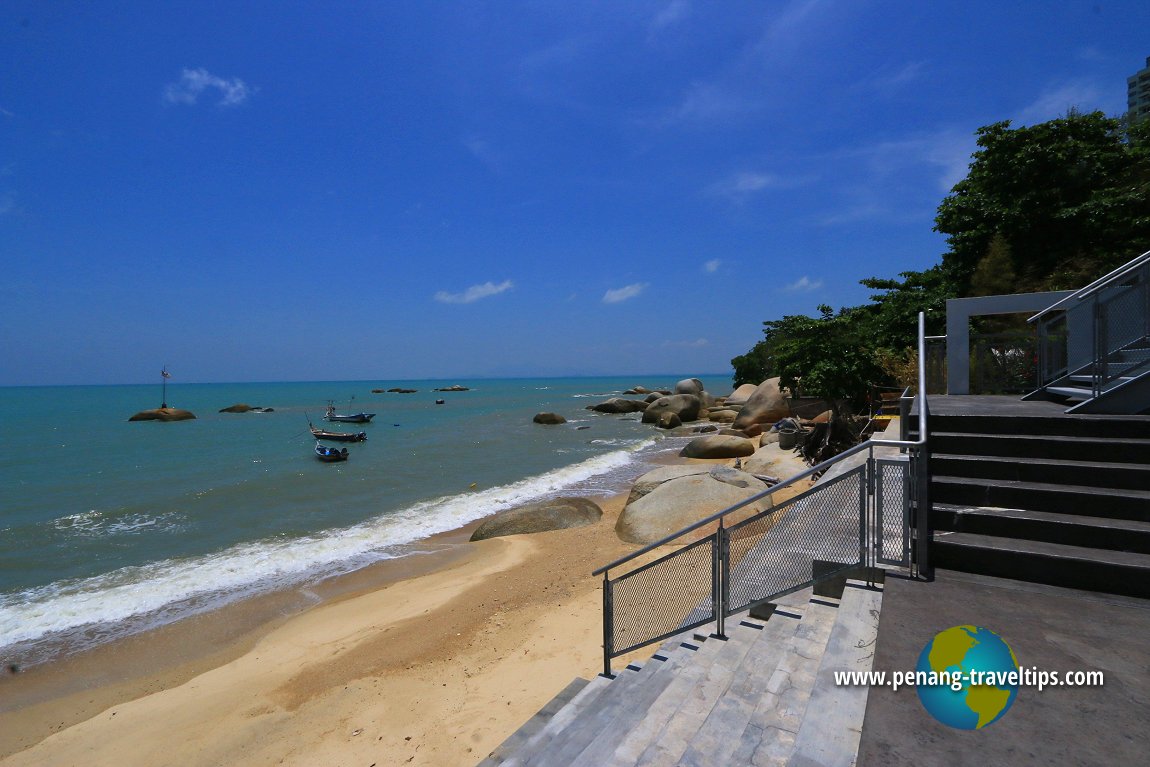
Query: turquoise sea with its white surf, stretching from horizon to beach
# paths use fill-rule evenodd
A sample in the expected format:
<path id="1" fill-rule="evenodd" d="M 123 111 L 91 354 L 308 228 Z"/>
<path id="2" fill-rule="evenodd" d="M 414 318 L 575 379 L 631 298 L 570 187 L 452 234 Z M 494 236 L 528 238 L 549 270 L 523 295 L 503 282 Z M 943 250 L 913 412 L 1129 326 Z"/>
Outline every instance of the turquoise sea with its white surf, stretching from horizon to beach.
<path id="1" fill-rule="evenodd" d="M 529 500 L 623 490 L 684 438 L 585 406 L 680 377 L 175 384 L 168 404 L 198 417 L 174 423 L 128 422 L 160 404 L 158 385 L 2 388 L 0 659 L 409 555 Z M 431 391 L 453 383 L 471 391 Z M 370 393 L 394 385 L 419 392 Z M 329 424 L 368 432 L 343 463 L 317 461 L 307 431 L 329 399 L 377 414 Z M 275 412 L 217 412 L 236 402 Z M 543 411 L 568 423 L 532 423 Z"/>

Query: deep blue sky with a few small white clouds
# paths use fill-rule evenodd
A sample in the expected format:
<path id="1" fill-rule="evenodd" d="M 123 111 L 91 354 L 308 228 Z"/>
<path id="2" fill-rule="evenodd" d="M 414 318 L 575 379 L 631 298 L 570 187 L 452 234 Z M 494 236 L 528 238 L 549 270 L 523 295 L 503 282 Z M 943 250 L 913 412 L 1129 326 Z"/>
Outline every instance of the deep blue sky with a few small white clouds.
<path id="1" fill-rule="evenodd" d="M 724 374 L 1142 2 L 0 6 L 0 384 Z"/>

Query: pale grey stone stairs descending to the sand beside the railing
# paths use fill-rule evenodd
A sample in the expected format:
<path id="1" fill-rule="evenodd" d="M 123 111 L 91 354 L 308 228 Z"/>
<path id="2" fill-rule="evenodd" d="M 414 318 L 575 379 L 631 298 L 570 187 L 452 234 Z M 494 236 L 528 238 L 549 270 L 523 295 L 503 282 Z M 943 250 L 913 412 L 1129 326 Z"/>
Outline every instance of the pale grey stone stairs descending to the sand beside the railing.
<path id="1" fill-rule="evenodd" d="M 854 762 L 881 588 L 810 590 L 767 619 L 730 619 L 727 639 L 685 635 L 613 680 L 576 680 L 481 767 L 841 765 Z"/>

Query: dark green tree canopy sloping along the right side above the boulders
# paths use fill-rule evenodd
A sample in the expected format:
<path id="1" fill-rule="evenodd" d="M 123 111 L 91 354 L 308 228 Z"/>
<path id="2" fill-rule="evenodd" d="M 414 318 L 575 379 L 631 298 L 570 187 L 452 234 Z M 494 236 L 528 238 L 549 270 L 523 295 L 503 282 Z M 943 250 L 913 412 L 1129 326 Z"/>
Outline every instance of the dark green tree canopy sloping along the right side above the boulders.
<path id="1" fill-rule="evenodd" d="M 949 251 L 900 279 L 869 277 L 871 302 L 764 322 L 765 338 L 731 360 L 735 384 L 777 375 L 804 393 L 860 398 L 894 384 L 918 313 L 943 330 L 948 298 L 1081 287 L 1150 250 L 1150 121 L 1070 112 L 1037 125 L 976 132 L 966 177 L 938 206 Z"/>

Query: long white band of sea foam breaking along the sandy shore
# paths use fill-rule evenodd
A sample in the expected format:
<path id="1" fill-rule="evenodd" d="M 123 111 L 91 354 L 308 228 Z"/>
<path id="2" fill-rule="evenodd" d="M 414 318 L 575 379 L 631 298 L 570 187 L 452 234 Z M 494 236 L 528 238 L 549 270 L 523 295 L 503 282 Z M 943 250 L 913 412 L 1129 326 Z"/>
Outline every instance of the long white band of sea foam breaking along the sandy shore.
<path id="1" fill-rule="evenodd" d="M 618 471 L 656 444 L 651 438 L 638 440 L 554 471 L 420 501 L 347 528 L 0 595 L 0 647 L 68 635 L 70 649 L 77 650 L 246 596 L 350 572 L 400 555 L 407 544 Z M 100 524 L 94 515 L 70 522 L 80 528 Z"/>

